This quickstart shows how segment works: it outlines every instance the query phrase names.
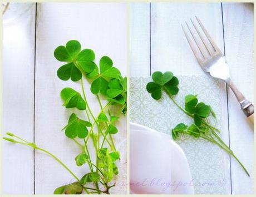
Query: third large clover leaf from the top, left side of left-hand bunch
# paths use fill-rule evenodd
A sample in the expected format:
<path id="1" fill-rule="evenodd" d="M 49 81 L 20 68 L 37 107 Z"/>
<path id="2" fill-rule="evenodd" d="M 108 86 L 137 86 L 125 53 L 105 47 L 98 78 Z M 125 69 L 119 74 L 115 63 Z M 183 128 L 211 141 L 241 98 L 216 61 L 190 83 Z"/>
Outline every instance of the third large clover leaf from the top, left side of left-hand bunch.
<path id="1" fill-rule="evenodd" d="M 68 124 L 62 129 L 65 129 L 65 134 L 68 138 L 86 138 L 88 135 L 87 127 L 91 127 L 91 123 L 82 120 L 76 116 L 76 114 L 71 114 L 68 119 Z"/>

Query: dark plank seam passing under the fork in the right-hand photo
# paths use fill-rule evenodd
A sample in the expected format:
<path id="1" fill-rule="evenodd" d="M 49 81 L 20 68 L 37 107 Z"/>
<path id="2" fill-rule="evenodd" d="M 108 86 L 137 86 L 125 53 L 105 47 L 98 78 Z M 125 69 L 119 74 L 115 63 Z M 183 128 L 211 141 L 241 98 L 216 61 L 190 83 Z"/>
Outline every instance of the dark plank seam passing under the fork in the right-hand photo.
<path id="1" fill-rule="evenodd" d="M 225 33 L 224 33 L 224 17 L 223 17 L 223 4 L 221 4 L 221 19 L 222 19 L 222 32 L 223 32 L 223 46 L 224 46 L 224 56 L 226 56 L 225 49 Z M 228 110 L 228 139 L 229 139 L 229 148 L 230 148 L 230 129 L 229 129 L 229 102 L 228 102 L 228 84 L 226 83 L 226 95 L 227 95 L 227 110 Z M 230 193 L 232 194 L 232 169 L 231 169 L 231 155 L 229 154 L 229 169 L 230 169 Z"/>

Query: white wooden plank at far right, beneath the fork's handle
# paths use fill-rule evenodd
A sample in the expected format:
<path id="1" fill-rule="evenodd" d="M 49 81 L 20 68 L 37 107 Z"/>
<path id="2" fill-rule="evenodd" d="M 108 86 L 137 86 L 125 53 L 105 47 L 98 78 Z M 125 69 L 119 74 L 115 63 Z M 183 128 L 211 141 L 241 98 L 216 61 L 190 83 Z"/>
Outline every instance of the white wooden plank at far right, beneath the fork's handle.
<path id="1" fill-rule="evenodd" d="M 253 4 L 223 4 L 225 52 L 230 74 L 238 89 L 253 101 Z M 249 125 L 234 94 L 228 91 L 230 146 L 250 173 L 248 177 L 232 159 L 233 194 L 253 194 L 253 127 Z"/>

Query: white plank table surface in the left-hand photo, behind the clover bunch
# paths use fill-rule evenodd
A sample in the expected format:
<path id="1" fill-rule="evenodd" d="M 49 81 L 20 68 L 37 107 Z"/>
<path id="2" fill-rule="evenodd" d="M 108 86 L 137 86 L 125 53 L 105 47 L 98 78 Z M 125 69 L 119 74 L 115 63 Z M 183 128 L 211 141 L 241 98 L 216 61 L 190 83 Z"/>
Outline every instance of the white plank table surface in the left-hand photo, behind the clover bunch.
<path id="1" fill-rule="evenodd" d="M 55 48 L 71 39 L 94 50 L 96 63 L 107 55 L 127 75 L 126 3 L 33 4 L 16 21 L 3 25 L 3 130 L 30 142 L 35 139 L 81 177 L 84 170 L 74 160 L 80 149 L 60 132 L 70 115 L 62 107 L 60 91 L 65 87 L 81 91 L 81 85 L 58 79 L 62 63 L 53 57 Z M 85 89 L 92 111 L 98 114 L 99 104 L 88 83 Z M 125 118 L 118 128 L 121 143 L 126 139 Z M 75 181 L 40 151 L 34 154 L 29 147 L 7 142 L 3 150 L 3 194 L 52 194 L 58 186 Z M 126 158 L 126 148 L 122 155 Z"/>

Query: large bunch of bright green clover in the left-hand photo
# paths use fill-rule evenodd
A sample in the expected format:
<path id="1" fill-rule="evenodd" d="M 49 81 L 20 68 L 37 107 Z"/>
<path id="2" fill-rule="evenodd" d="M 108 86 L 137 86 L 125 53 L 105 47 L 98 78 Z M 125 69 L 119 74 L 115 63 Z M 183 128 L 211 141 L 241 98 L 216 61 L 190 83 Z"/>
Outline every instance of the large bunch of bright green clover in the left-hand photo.
<path id="1" fill-rule="evenodd" d="M 76 179 L 71 184 L 56 188 L 54 194 L 82 194 L 83 191 L 87 194 L 110 194 L 110 189 L 115 186 L 115 183 L 110 185 L 110 182 L 114 176 L 119 174 L 116 162 L 120 159 L 120 153 L 116 150 L 112 135 L 119 132 L 115 124 L 120 115 L 126 114 L 127 78 L 122 77 L 119 69 L 114 67 L 113 61 L 106 55 L 100 58 L 98 67 L 94 62 L 93 50 L 81 49 L 80 42 L 75 40 L 68 41 L 65 46 L 58 46 L 54 51 L 54 56 L 60 62 L 65 62 L 57 69 L 58 78 L 71 79 L 73 82 L 80 80 L 81 83 L 82 93 L 77 89 L 65 87 L 61 90 L 60 97 L 63 107 L 85 112 L 87 118 L 81 119 L 80 115 L 72 113 L 62 130 L 65 130 L 68 139 L 73 140 L 81 148 L 81 152 L 77 153 L 73 159 L 74 163 L 80 168 L 88 165 L 90 171 L 85 170 L 85 174 L 78 178 L 60 159 L 35 143 L 27 142 L 12 133 L 7 133 L 11 138 L 4 138 L 4 140 L 44 151 Z M 85 92 L 83 88 L 83 78 L 91 82 L 90 92 L 99 102 L 100 110 L 97 115 L 92 113 L 87 102 L 88 92 Z M 100 94 L 101 97 L 99 97 Z M 102 106 L 101 98 L 108 101 L 105 106 Z M 111 112 L 110 106 L 112 105 L 119 108 L 119 113 L 116 112 L 116 108 Z M 89 140 L 92 141 L 95 150 L 88 149 Z M 92 159 L 93 151 L 95 151 L 95 159 Z M 95 163 L 93 163 L 94 160 Z M 94 187 L 89 186 L 89 183 L 92 183 Z M 104 190 L 100 189 L 100 185 Z"/>

